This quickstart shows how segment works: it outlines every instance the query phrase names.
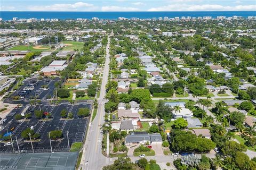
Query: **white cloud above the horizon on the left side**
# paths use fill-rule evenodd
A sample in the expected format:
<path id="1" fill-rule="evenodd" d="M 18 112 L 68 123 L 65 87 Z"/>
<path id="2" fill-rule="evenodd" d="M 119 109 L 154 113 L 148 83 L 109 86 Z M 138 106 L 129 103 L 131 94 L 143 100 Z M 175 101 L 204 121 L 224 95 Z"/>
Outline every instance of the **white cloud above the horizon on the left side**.
<path id="1" fill-rule="evenodd" d="M 92 11 L 93 4 L 77 2 L 74 4 L 52 4 L 46 6 L 28 6 L 30 11 Z"/>

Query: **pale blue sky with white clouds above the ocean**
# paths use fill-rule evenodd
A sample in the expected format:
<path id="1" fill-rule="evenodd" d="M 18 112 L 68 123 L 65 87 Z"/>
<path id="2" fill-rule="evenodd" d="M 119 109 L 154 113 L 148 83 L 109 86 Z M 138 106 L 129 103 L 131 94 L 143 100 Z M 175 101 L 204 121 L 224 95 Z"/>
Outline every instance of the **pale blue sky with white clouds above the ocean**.
<path id="1" fill-rule="evenodd" d="M 256 11 L 256 0 L 0 1 L 0 11 Z"/>

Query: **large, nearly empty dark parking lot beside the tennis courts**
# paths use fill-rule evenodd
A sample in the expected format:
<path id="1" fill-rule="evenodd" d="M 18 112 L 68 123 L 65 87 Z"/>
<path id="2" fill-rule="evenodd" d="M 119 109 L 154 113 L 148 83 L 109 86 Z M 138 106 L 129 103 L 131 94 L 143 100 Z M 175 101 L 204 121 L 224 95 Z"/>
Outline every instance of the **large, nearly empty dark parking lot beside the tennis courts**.
<path id="1" fill-rule="evenodd" d="M 53 130 L 61 130 L 63 134 L 63 139 L 61 141 L 51 141 L 52 149 L 54 152 L 58 151 L 68 151 L 68 139 L 67 139 L 67 131 L 69 137 L 69 144 L 73 142 L 82 142 L 84 140 L 87 123 L 89 118 L 79 118 L 77 116 L 77 112 L 79 108 L 90 108 L 91 104 L 81 103 L 81 104 L 60 104 L 60 105 L 42 105 L 41 110 L 43 112 L 49 112 L 53 116 L 53 120 L 50 121 L 41 121 L 38 120 L 34 111 L 39 110 L 39 106 L 30 106 L 32 117 L 30 121 L 19 122 L 16 121 L 14 116 L 16 114 L 20 114 L 22 109 L 25 107 L 14 109 L 13 116 L 7 117 L 7 120 L 3 124 L 3 129 L 1 134 L 5 134 L 7 131 L 12 131 L 12 138 L 15 140 L 15 137 L 18 138 L 18 143 L 20 150 L 23 152 L 32 152 L 31 143 L 24 142 L 21 138 L 21 132 L 31 126 L 34 126 L 35 133 L 41 134 L 41 141 L 33 142 L 33 148 L 35 152 L 48 152 L 51 151 L 50 148 L 50 140 L 49 140 L 49 132 Z M 68 112 L 73 113 L 74 118 L 72 120 L 62 120 L 60 113 L 62 109 L 66 109 Z M 12 146 L 3 146 L 3 143 L 0 144 L 0 152 L 13 152 Z M 14 142 L 14 150 L 18 151 L 17 142 Z"/>

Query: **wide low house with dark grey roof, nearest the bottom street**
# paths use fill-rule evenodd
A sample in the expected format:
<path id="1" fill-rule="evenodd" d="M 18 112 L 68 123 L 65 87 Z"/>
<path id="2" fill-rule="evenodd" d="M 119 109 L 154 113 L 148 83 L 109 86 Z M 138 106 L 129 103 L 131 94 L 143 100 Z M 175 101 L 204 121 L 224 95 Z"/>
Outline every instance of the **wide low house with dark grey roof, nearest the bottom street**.
<path id="1" fill-rule="evenodd" d="M 162 144 L 162 137 L 161 134 L 131 134 L 125 137 L 125 145 L 145 145 L 147 142 L 154 144 L 160 143 Z"/>

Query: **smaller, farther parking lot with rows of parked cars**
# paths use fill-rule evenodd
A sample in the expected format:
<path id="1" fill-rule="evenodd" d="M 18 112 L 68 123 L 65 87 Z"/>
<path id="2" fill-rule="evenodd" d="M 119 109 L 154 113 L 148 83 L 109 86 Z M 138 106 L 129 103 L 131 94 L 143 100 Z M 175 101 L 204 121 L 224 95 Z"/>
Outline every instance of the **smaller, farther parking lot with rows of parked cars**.
<path id="1" fill-rule="evenodd" d="M 24 82 L 24 84 L 13 92 L 12 95 L 7 97 L 4 100 L 4 103 L 11 103 L 11 104 L 22 104 L 27 105 L 30 103 L 31 98 L 37 96 L 38 99 L 41 100 L 42 103 L 48 103 L 47 98 L 51 95 L 53 96 L 55 86 L 54 83 L 60 81 L 59 78 L 55 80 L 51 79 L 42 79 L 37 80 L 37 78 L 31 78 Z M 47 85 L 47 89 L 43 89 L 42 86 Z M 19 100 L 13 100 L 13 96 L 20 96 Z"/>

